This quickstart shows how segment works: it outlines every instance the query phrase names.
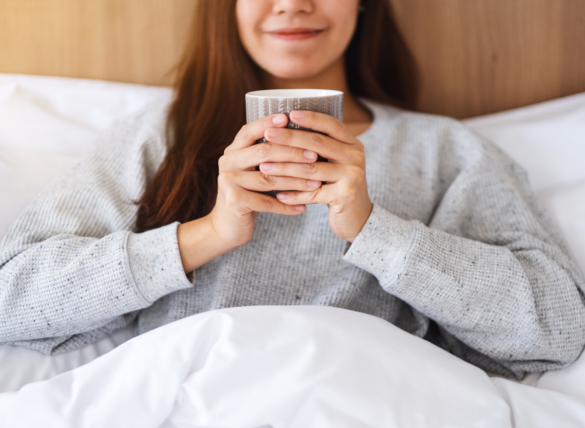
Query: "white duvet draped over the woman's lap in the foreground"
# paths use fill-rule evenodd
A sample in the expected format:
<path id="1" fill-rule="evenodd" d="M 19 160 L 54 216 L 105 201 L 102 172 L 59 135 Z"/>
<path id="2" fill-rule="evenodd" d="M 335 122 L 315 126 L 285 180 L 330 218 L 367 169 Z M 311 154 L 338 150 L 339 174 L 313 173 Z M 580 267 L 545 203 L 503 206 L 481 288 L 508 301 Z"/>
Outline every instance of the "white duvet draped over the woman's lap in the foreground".
<path id="1" fill-rule="evenodd" d="M 578 427 L 576 398 L 505 379 L 377 317 L 319 306 L 201 313 L 0 395 L 18 427 Z"/>

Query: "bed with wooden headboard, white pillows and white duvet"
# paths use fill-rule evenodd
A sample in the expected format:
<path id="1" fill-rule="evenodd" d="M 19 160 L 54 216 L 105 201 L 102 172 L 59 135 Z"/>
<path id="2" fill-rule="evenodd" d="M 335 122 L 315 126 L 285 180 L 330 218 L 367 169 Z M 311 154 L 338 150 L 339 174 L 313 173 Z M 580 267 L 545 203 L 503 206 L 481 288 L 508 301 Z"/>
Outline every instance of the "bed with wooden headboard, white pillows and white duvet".
<path id="1" fill-rule="evenodd" d="M 521 164 L 585 274 L 583 2 L 391 3 L 417 109 Z M 0 237 L 103 130 L 172 96 L 192 5 L 0 4 Z M 583 427 L 584 385 L 583 355 L 515 382 L 369 315 L 256 306 L 56 356 L 0 346 L 0 427 Z"/>

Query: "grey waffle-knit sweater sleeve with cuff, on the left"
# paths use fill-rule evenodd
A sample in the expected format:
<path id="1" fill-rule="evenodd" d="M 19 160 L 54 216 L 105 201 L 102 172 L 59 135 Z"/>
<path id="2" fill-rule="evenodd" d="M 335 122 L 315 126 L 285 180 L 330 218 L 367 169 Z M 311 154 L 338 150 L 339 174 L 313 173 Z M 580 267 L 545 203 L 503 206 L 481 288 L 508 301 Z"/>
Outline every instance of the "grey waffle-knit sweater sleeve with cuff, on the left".
<path id="1" fill-rule="evenodd" d="M 113 127 L 27 206 L 0 244 L 0 342 L 61 353 L 192 287 L 177 223 L 133 233 L 166 153 L 166 109 Z"/>

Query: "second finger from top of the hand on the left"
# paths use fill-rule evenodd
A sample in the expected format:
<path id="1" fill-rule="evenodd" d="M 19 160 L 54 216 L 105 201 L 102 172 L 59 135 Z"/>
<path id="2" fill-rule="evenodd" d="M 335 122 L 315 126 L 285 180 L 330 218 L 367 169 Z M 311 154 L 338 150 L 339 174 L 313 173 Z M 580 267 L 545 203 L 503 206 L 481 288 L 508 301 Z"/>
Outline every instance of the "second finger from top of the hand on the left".
<path id="1" fill-rule="evenodd" d="M 261 143 L 230 152 L 223 156 L 221 171 L 249 170 L 263 162 L 309 163 L 317 160 L 317 153 L 299 147 Z"/>

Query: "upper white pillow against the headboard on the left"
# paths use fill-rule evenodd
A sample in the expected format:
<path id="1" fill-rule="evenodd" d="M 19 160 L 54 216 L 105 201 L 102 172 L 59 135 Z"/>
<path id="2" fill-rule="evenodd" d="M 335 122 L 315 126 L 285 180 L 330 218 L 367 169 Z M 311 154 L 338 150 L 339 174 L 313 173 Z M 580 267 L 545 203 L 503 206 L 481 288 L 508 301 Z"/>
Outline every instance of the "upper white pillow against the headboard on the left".
<path id="1" fill-rule="evenodd" d="M 0 74 L 0 147 L 78 154 L 115 120 L 171 93 L 146 85 Z"/>

